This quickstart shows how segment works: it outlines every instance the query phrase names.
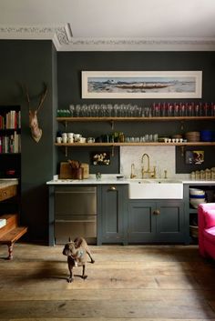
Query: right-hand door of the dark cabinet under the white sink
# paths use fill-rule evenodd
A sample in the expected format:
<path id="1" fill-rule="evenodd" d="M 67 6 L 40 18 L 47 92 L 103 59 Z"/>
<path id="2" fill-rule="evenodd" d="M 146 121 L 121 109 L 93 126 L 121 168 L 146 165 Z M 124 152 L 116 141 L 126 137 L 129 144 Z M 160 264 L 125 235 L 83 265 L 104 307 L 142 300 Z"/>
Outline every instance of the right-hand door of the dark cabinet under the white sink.
<path id="1" fill-rule="evenodd" d="M 157 210 L 157 241 L 158 242 L 184 242 L 185 225 L 182 201 L 159 201 Z"/>

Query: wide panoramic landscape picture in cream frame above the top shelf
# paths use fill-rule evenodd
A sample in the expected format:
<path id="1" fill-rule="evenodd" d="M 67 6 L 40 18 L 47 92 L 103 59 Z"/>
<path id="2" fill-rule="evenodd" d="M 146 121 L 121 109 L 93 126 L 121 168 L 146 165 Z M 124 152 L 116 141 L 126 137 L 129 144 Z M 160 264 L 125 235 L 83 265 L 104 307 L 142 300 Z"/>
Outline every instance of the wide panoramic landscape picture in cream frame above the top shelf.
<path id="1" fill-rule="evenodd" d="M 201 71 L 82 71 L 82 98 L 201 98 Z"/>

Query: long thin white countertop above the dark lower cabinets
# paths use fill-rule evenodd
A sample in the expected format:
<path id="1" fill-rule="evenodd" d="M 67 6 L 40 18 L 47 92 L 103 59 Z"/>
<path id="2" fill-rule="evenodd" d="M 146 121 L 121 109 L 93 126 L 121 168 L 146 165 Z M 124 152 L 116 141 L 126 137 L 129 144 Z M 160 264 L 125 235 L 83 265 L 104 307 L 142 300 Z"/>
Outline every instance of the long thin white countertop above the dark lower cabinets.
<path id="1" fill-rule="evenodd" d="M 46 185 L 101 185 L 101 184 L 130 184 L 131 182 L 134 182 L 135 180 L 141 180 L 141 178 L 130 179 L 127 177 L 123 178 L 117 178 L 117 176 L 120 176 L 120 174 L 116 175 L 102 175 L 100 179 L 96 178 L 96 175 L 90 175 L 87 179 L 58 179 L 58 176 L 55 176 L 53 180 L 46 182 Z M 148 180 L 148 179 L 146 179 Z M 150 179 L 153 182 L 153 178 Z M 158 182 L 159 179 L 157 179 Z M 171 178 L 168 178 L 167 183 L 171 184 L 169 181 Z M 164 178 L 160 178 L 160 181 L 165 182 Z M 176 183 L 176 178 L 172 179 L 173 183 Z M 178 179 L 177 183 L 181 184 L 195 184 L 195 185 L 210 185 L 215 184 L 215 181 L 202 181 L 202 180 L 192 180 L 192 179 Z"/>

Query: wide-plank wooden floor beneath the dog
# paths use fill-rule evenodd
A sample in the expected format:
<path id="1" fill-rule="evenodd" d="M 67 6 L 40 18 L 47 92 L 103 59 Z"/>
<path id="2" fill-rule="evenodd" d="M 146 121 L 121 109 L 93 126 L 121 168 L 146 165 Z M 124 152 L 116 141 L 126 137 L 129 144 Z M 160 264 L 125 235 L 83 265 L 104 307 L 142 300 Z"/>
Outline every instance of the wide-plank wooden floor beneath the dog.
<path id="1" fill-rule="evenodd" d="M 15 244 L 12 261 L 0 246 L 0 320 L 215 320 L 215 262 L 197 246 L 90 248 L 69 284 L 63 246 Z"/>

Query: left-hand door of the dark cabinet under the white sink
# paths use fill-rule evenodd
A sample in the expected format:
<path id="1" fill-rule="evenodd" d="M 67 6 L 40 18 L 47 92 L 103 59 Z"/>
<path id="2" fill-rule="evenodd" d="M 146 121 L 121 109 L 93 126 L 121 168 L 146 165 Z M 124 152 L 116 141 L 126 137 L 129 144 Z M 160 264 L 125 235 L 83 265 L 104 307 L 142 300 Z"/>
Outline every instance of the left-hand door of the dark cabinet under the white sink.
<path id="1" fill-rule="evenodd" d="M 128 208 L 128 242 L 147 243 L 156 239 L 156 203 L 134 200 Z"/>

